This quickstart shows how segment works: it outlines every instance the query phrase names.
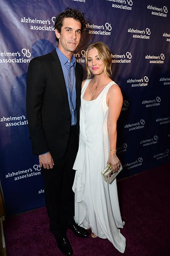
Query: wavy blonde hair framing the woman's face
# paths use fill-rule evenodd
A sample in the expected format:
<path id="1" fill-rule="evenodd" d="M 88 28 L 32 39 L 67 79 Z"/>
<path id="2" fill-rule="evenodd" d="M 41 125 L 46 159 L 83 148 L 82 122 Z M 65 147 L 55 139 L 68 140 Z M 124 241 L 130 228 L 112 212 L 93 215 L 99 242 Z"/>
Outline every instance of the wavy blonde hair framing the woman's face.
<path id="1" fill-rule="evenodd" d="M 87 54 L 88 54 L 88 51 L 93 48 L 96 49 L 99 58 L 104 62 L 104 74 L 106 76 L 110 76 L 112 74 L 112 71 L 111 71 L 112 59 L 111 59 L 110 49 L 108 48 L 108 46 L 106 46 L 105 43 L 96 42 L 96 43 L 91 43 L 88 46 L 85 53 L 85 67 L 87 70 L 87 79 L 90 78 L 91 76 L 91 72 L 88 67 Z"/>

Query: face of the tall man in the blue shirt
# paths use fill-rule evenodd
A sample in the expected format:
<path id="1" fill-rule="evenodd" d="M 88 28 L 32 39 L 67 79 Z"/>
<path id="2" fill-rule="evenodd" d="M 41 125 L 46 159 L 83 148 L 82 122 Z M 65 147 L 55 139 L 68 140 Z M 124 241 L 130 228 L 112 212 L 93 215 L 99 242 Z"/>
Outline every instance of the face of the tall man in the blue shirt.
<path id="1" fill-rule="evenodd" d="M 58 48 L 66 56 L 73 53 L 81 39 L 81 23 L 73 18 L 64 18 L 61 32 L 55 29 L 59 39 Z"/>

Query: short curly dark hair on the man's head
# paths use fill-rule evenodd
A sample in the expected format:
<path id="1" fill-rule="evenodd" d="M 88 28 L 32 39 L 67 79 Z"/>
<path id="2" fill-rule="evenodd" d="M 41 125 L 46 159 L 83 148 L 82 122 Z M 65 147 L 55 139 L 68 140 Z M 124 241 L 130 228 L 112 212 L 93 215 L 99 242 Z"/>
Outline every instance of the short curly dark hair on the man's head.
<path id="1" fill-rule="evenodd" d="M 55 17 L 54 28 L 57 29 L 59 33 L 61 33 L 64 18 L 73 18 L 74 20 L 79 21 L 81 23 L 81 32 L 85 29 L 84 13 L 81 13 L 76 9 L 71 9 L 70 7 L 67 7 L 64 12 L 59 13 Z"/>

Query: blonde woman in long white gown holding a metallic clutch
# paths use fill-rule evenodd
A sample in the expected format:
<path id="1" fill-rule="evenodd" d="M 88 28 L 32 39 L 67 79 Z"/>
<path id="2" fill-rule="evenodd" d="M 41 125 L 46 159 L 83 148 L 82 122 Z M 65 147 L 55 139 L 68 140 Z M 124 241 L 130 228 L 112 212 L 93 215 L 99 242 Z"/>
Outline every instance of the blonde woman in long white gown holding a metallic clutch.
<path id="1" fill-rule="evenodd" d="M 111 163 L 120 167 L 116 155 L 117 119 L 123 97 L 119 86 L 110 79 L 110 50 L 102 42 L 89 45 L 85 55 L 87 79 L 82 82 L 80 141 L 73 169 L 75 221 L 91 228 L 92 237 L 108 239 L 119 250 L 125 250 L 116 180 L 106 183 L 101 171 Z M 92 78 L 90 78 L 92 75 Z"/>

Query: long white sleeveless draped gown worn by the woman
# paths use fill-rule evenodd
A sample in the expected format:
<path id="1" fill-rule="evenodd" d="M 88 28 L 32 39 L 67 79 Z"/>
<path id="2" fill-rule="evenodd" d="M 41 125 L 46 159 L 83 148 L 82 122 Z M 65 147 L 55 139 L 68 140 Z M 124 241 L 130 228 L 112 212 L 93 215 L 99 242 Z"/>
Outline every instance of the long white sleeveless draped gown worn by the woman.
<path id="1" fill-rule="evenodd" d="M 80 141 L 73 166 L 76 170 L 73 191 L 75 193 L 75 222 L 91 228 L 100 238 L 108 239 L 119 250 L 125 250 L 125 237 L 120 233 L 123 221 L 120 215 L 116 180 L 108 184 L 101 171 L 106 167 L 110 144 L 108 138 L 108 106 L 106 95 L 115 82 L 109 82 L 95 100 L 83 99 L 90 79 L 81 91 Z"/>

